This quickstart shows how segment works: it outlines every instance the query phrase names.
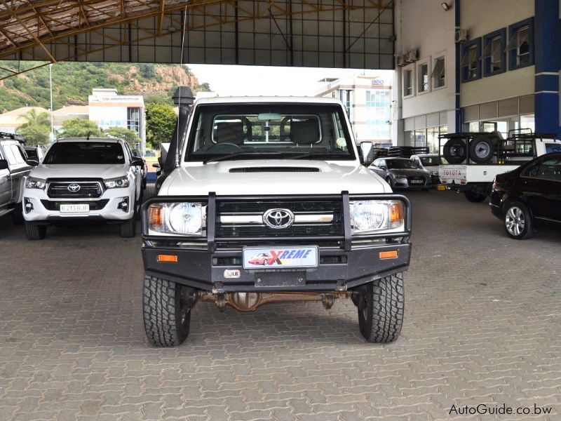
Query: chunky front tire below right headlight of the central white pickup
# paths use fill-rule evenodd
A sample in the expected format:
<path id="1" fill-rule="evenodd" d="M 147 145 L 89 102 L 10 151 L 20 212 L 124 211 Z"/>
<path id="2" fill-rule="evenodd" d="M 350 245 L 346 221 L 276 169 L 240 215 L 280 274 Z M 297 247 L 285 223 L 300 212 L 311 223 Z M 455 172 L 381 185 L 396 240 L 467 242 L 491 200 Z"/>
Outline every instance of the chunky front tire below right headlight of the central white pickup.
<path id="1" fill-rule="evenodd" d="M 404 309 L 403 272 L 369 283 L 358 300 L 360 333 L 368 342 L 397 340 L 403 326 Z"/>

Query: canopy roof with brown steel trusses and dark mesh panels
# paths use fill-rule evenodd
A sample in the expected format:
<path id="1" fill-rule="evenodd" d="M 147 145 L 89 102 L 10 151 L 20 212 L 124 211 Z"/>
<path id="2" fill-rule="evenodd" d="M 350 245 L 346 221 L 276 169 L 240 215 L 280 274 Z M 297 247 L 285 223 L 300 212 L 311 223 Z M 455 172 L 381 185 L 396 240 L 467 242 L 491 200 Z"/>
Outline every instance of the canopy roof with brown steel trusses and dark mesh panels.
<path id="1" fill-rule="evenodd" d="M 391 69 L 394 39 L 392 0 L 0 0 L 0 67 L 183 58 Z"/>

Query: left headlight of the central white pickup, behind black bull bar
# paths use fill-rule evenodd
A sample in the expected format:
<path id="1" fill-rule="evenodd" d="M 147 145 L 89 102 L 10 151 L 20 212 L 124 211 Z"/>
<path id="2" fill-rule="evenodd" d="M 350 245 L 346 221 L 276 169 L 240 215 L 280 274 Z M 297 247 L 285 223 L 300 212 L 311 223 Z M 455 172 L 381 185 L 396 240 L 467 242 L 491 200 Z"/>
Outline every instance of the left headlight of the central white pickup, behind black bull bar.
<path id="1" fill-rule="evenodd" d="M 202 235 L 205 225 L 203 203 L 152 203 L 148 208 L 149 234 Z"/>

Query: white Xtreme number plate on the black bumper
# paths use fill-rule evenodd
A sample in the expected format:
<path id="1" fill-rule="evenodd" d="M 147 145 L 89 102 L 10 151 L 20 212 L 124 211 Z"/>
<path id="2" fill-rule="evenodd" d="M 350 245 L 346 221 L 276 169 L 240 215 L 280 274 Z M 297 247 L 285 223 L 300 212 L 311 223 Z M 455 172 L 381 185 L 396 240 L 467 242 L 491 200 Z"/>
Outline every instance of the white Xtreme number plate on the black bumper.
<path id="1" fill-rule="evenodd" d="M 242 260 L 243 269 L 309 269 L 319 266 L 319 247 L 244 247 Z"/>

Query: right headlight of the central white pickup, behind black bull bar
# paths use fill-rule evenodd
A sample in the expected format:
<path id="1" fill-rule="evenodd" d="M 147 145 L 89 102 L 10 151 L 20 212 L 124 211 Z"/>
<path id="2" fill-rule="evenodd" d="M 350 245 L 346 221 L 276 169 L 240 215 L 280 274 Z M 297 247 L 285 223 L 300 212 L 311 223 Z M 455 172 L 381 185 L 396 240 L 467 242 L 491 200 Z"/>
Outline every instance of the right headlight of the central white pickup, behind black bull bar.
<path id="1" fill-rule="evenodd" d="M 405 229 L 403 203 L 398 200 L 351 201 L 351 227 L 353 234 L 367 234 Z"/>

